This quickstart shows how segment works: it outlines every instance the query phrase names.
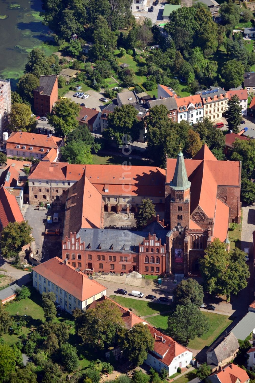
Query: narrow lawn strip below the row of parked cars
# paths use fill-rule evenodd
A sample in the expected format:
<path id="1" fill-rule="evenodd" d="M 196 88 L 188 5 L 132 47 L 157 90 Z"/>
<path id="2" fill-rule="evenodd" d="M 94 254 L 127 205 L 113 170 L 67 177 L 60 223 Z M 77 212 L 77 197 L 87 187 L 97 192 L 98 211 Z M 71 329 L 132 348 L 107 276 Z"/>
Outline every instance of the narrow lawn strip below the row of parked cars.
<path id="1" fill-rule="evenodd" d="M 125 298 L 117 295 L 110 295 L 110 298 L 124 307 L 132 308 L 136 315 L 141 316 L 156 314 L 160 311 L 167 311 L 171 309 L 171 306 L 168 306 L 167 304 L 154 303 L 151 301 L 140 301 L 138 299 Z"/>

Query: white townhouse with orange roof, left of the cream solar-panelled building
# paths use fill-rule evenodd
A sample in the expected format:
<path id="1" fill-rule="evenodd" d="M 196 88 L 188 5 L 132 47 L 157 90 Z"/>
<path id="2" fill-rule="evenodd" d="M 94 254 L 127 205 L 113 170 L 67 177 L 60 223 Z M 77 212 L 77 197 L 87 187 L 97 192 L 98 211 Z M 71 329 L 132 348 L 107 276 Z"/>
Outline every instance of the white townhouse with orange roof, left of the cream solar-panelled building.
<path id="1" fill-rule="evenodd" d="M 200 95 L 176 97 L 178 122 L 187 121 L 190 125 L 203 121 L 203 105 Z"/>

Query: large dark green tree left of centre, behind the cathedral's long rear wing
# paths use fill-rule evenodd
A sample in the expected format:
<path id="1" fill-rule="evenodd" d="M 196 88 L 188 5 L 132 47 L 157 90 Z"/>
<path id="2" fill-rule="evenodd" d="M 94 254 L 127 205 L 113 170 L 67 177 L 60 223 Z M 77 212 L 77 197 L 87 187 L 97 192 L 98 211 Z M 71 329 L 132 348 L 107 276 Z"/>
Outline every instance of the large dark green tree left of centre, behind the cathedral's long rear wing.
<path id="1" fill-rule="evenodd" d="M 136 115 L 137 110 L 130 104 L 115 108 L 114 112 L 108 115 L 108 127 L 103 131 L 103 137 L 113 137 L 117 145 L 123 145 L 122 139 L 125 135 L 125 141 L 136 141 L 140 135 L 140 123 Z"/>

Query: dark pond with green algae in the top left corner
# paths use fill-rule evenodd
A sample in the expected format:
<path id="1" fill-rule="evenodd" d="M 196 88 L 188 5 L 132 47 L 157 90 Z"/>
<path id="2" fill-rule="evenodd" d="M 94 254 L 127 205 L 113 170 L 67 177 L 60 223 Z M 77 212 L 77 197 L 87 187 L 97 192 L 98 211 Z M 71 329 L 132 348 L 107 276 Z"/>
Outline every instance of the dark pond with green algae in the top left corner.
<path id="1" fill-rule="evenodd" d="M 49 28 L 39 16 L 41 0 L 0 0 L 0 77 L 11 79 L 15 89 L 23 74 L 28 53 L 38 47 L 50 55 L 58 50 Z"/>

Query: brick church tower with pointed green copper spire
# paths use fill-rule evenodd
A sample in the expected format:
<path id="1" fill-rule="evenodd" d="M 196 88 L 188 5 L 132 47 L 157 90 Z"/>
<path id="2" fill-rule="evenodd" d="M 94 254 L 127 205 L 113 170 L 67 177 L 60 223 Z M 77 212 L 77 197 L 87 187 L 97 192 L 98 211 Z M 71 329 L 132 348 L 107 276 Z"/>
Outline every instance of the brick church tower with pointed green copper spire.
<path id="1" fill-rule="evenodd" d="M 177 156 L 174 178 L 170 182 L 170 229 L 189 227 L 190 181 L 187 177 L 182 151 Z M 180 231 L 180 230 L 179 230 Z"/>

